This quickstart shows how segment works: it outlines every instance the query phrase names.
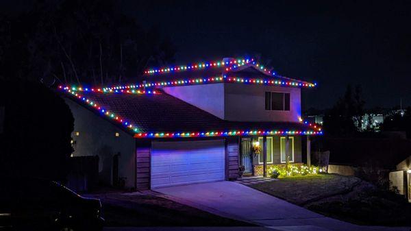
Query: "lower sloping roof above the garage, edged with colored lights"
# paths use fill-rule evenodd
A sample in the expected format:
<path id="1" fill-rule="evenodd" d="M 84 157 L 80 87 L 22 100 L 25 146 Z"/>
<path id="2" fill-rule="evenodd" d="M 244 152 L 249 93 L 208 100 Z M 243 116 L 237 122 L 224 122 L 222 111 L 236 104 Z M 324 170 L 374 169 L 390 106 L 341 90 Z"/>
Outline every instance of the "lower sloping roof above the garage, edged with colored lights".
<path id="1" fill-rule="evenodd" d="M 136 94 L 62 90 L 135 137 L 322 134 L 316 125 L 304 123 L 225 121 L 162 90 Z"/>

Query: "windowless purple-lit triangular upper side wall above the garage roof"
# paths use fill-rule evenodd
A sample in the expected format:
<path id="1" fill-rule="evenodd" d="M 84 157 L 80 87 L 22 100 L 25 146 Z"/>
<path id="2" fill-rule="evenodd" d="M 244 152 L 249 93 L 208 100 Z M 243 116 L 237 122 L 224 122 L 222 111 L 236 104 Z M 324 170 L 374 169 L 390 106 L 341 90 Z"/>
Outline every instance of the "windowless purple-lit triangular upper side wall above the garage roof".
<path id="1" fill-rule="evenodd" d="M 168 86 L 164 92 L 224 119 L 224 84 Z"/>

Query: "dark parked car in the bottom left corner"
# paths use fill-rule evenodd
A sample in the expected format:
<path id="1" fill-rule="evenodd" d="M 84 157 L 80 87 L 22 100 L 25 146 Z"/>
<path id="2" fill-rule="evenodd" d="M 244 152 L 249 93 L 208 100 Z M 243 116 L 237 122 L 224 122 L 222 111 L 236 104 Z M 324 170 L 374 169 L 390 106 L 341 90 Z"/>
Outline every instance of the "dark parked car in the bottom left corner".
<path id="1" fill-rule="evenodd" d="M 0 230 L 103 228 L 99 199 L 82 197 L 49 180 L 3 178 L 0 185 Z"/>

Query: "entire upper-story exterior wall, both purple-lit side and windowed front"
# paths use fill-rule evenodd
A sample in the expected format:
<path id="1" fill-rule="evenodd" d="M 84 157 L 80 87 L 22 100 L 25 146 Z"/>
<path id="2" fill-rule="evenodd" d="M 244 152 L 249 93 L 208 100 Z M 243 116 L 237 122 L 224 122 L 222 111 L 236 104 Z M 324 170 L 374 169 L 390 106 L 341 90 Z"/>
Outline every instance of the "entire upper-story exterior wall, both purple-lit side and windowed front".
<path id="1" fill-rule="evenodd" d="M 301 117 L 301 89 L 253 84 L 167 86 L 164 92 L 228 121 L 291 121 Z M 265 92 L 290 93 L 290 110 L 265 110 Z"/>

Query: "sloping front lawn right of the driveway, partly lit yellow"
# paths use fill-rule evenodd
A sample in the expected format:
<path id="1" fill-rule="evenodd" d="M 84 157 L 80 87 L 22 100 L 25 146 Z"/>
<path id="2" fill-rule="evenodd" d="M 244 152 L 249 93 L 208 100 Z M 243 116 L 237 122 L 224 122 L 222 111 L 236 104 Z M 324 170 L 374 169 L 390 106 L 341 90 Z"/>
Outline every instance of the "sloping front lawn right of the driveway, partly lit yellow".
<path id="1" fill-rule="evenodd" d="M 411 204 L 353 176 L 279 178 L 251 187 L 328 217 L 375 226 L 411 226 Z"/>

